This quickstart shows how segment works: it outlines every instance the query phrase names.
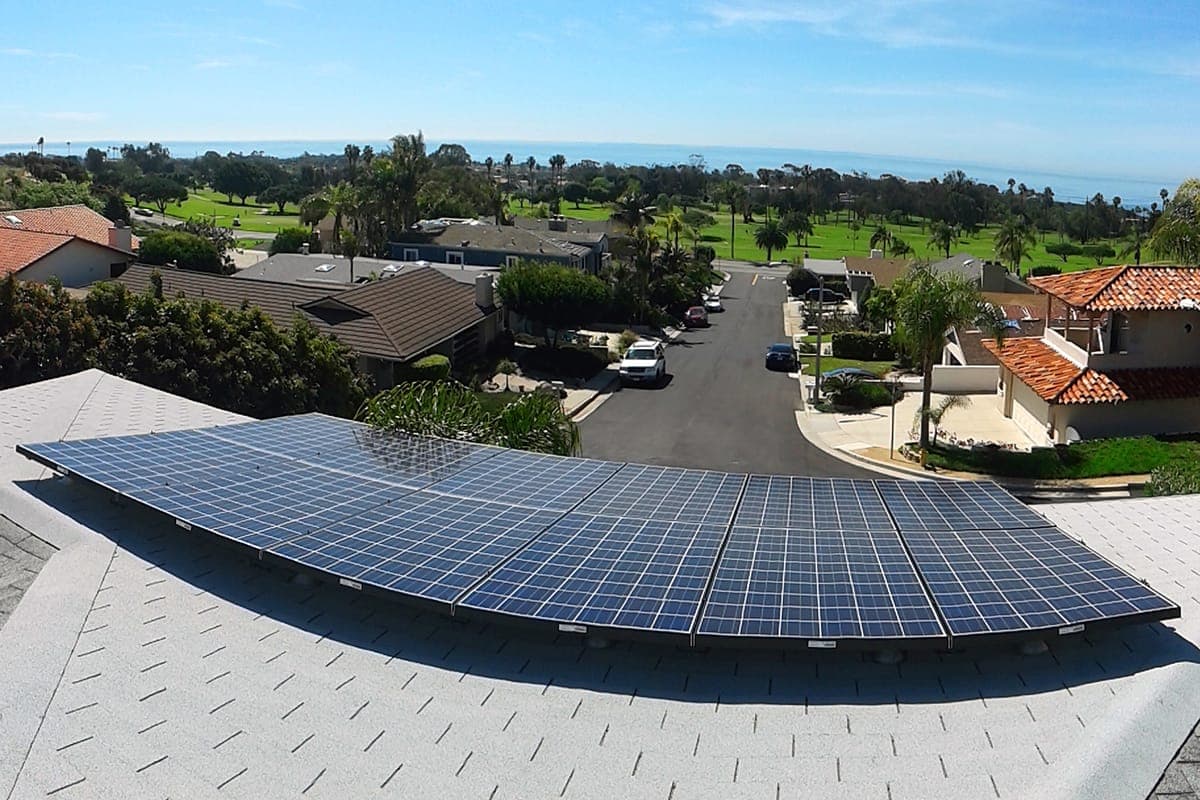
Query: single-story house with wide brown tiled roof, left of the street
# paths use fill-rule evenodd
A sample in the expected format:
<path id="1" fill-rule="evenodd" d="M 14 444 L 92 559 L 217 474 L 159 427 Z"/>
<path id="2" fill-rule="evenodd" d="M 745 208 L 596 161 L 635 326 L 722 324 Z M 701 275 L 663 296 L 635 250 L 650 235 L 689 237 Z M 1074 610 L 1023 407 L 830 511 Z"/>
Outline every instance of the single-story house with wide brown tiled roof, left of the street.
<path id="1" fill-rule="evenodd" d="M 118 282 L 131 291 L 145 291 L 155 271 L 168 297 L 212 300 L 230 308 L 257 306 L 281 327 L 302 317 L 354 350 L 360 368 L 379 387 L 396 383 L 397 365 L 425 355 L 469 362 L 500 330 L 491 275 L 463 283 L 418 267 L 361 285 L 305 285 L 134 264 Z"/>

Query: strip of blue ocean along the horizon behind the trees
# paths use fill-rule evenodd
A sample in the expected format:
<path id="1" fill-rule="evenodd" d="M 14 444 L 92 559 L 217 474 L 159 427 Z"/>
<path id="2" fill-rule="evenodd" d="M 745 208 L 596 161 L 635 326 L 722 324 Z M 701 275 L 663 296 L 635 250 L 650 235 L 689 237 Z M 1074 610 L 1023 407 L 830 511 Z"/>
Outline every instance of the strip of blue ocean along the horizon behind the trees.
<path id="1" fill-rule="evenodd" d="M 1122 205 L 1127 209 L 1136 205 L 1150 207 L 1151 203 L 1159 201 L 1159 190 L 1166 188 L 1174 192 L 1180 180 L 1182 180 L 1182 176 L 1129 178 L 1115 175 L 1075 175 L 932 158 L 786 148 L 599 142 L 486 142 L 472 139 L 458 139 L 456 143 L 464 146 L 467 152 L 476 161 L 482 161 L 487 156 L 491 156 L 497 162 L 500 162 L 504 158 L 504 154 L 511 152 L 514 162 L 517 164 L 523 163 L 526 158 L 533 156 L 538 160 L 538 163 L 545 166 L 552 155 L 560 152 L 566 156 L 568 163 L 592 158 L 600 163 L 612 162 L 619 166 L 679 164 L 688 163 L 695 156 L 701 156 L 708 169 L 722 169 L 726 164 L 740 164 L 745 170 L 754 172 L 761 168 L 772 169 L 792 163 L 797 166 L 810 164 L 814 168 L 828 167 L 840 173 L 866 173 L 872 178 L 890 173 L 907 180 L 940 179 L 952 169 L 961 169 L 976 181 L 994 184 L 1001 190 L 1006 190 L 1008 179 L 1013 178 L 1019 184 L 1025 184 L 1036 192 L 1040 192 L 1044 187 L 1049 186 L 1054 190 L 1055 198 L 1058 200 L 1084 201 L 1099 192 L 1110 200 L 1114 197 L 1120 197 Z M 72 142 L 70 152 L 83 155 L 88 148 L 100 148 L 103 150 L 104 148 L 120 144 L 122 143 L 112 140 Z M 340 154 L 346 145 L 344 142 L 304 139 L 278 142 L 163 142 L 162 144 L 173 155 L 179 157 L 198 156 L 209 150 L 216 150 L 221 154 L 262 151 L 266 155 L 283 158 L 299 156 L 305 152 Z M 383 140 L 366 140 L 356 144 L 370 144 L 376 150 L 383 150 L 389 146 L 388 142 Z M 432 152 L 442 142 L 427 139 L 426 144 Z M 47 142 L 44 146 L 48 154 L 66 155 L 68 152 L 68 145 L 65 142 Z M 29 143 L 0 143 L 0 152 L 28 151 L 31 148 L 32 145 Z"/>

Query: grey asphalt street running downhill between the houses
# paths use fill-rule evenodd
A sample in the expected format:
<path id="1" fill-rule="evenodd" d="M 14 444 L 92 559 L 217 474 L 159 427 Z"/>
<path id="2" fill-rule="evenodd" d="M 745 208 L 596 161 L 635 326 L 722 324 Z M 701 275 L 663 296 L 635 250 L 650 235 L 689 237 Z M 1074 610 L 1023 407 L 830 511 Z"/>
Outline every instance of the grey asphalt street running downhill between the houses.
<path id="1" fill-rule="evenodd" d="M 877 477 L 810 445 L 796 427 L 796 379 L 763 367 L 767 345 L 784 338 L 782 276 L 732 276 L 721 294 L 725 313 L 667 348 L 671 381 L 664 389 L 623 389 L 583 420 L 583 455 L 733 473 Z"/>

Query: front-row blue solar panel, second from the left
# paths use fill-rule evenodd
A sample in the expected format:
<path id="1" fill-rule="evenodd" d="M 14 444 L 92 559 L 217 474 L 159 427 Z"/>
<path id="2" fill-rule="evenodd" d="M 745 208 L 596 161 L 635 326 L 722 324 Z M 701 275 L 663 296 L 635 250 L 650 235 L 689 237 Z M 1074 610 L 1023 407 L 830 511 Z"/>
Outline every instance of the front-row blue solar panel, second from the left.
<path id="1" fill-rule="evenodd" d="M 559 516 L 415 492 L 269 552 L 338 577 L 450 602 Z"/>

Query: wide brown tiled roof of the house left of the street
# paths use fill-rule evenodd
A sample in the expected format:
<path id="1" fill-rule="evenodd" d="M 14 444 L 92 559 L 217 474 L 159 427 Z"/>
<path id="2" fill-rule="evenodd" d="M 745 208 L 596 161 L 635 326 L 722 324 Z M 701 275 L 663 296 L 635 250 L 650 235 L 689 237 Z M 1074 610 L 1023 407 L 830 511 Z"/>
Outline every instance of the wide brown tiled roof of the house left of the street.
<path id="1" fill-rule="evenodd" d="M 155 270 L 162 273 L 166 296 L 182 294 L 232 308 L 257 306 L 283 327 L 302 314 L 355 353 L 392 361 L 407 361 L 486 315 L 475 306 L 474 287 L 432 269 L 343 289 L 136 264 L 118 282 L 132 291 L 145 291 Z M 431 279 L 431 273 L 436 279 Z M 474 309 L 473 315 L 467 302 Z"/>

